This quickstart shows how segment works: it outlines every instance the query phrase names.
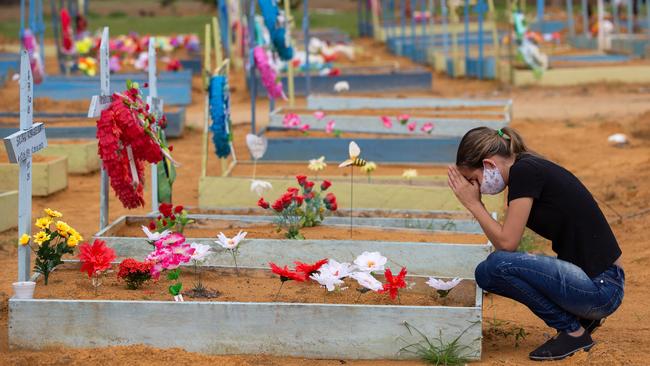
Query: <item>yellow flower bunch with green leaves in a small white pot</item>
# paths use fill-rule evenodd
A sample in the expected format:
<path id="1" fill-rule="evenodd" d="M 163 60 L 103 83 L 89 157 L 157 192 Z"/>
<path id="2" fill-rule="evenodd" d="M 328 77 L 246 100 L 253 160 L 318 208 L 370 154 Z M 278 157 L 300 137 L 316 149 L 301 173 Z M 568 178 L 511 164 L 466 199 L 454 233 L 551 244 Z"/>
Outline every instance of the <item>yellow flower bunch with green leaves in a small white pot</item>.
<path id="1" fill-rule="evenodd" d="M 43 282 L 47 285 L 50 273 L 62 264 L 61 258 L 65 254 L 72 254 L 74 248 L 83 240 L 79 232 L 60 219 L 63 217 L 58 211 L 45 209 L 45 216 L 35 220 L 34 225 L 41 229 L 31 238 L 27 234 L 21 235 L 18 244 L 29 245 L 36 254 L 34 271 L 43 275 Z M 36 246 L 32 246 L 30 242 Z"/>

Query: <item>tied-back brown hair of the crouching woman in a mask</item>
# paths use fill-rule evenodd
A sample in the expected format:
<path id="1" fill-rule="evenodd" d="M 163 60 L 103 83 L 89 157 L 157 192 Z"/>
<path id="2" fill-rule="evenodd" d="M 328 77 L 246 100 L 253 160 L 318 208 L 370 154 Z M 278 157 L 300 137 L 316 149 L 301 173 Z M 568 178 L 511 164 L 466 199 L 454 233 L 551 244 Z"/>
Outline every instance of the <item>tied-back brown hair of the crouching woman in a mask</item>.
<path id="1" fill-rule="evenodd" d="M 469 130 L 460 140 L 456 153 L 456 166 L 470 169 L 483 167 L 483 159 L 499 155 L 503 157 L 533 153 L 517 131 L 510 127 L 493 130 L 476 127 Z"/>

